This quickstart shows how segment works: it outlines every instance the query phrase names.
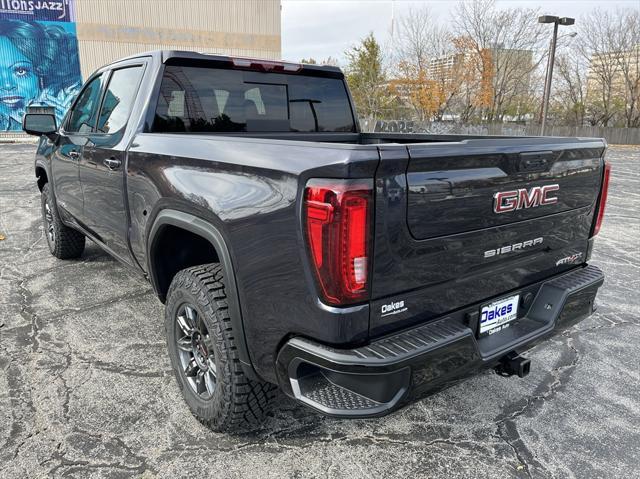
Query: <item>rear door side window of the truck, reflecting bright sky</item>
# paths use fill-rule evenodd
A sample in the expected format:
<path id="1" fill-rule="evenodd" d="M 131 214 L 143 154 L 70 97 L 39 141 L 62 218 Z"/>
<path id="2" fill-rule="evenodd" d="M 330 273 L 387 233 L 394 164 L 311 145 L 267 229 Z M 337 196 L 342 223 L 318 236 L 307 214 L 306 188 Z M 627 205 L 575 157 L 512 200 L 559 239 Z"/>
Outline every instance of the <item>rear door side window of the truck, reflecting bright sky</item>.
<path id="1" fill-rule="evenodd" d="M 141 78 L 142 65 L 121 68 L 111 74 L 98 117 L 99 132 L 115 133 L 127 124 Z"/>

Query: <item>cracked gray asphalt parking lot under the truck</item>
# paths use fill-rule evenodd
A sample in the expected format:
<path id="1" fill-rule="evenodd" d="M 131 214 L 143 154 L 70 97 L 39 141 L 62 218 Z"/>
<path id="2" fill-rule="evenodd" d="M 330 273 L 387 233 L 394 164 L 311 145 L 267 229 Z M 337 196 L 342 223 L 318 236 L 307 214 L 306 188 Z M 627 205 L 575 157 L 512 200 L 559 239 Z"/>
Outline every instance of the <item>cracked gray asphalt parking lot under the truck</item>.
<path id="1" fill-rule="evenodd" d="M 279 398 L 253 435 L 183 403 L 150 286 L 88 243 L 47 249 L 33 145 L 0 146 L 0 477 L 640 477 L 640 148 L 611 147 L 591 318 L 493 372 L 373 420 Z"/>

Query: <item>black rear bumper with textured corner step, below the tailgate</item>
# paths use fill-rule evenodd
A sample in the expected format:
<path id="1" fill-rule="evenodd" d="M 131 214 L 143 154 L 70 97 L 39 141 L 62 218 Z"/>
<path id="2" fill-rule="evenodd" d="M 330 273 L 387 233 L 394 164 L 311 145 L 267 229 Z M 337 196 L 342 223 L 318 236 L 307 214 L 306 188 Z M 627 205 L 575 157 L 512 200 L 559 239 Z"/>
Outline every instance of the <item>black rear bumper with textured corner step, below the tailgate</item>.
<path id="1" fill-rule="evenodd" d="M 595 266 L 542 282 L 524 316 L 482 338 L 479 304 L 466 308 L 466 321 L 446 316 L 355 349 L 292 338 L 278 354 L 278 380 L 286 394 L 327 415 L 384 415 L 588 317 L 603 282 Z"/>

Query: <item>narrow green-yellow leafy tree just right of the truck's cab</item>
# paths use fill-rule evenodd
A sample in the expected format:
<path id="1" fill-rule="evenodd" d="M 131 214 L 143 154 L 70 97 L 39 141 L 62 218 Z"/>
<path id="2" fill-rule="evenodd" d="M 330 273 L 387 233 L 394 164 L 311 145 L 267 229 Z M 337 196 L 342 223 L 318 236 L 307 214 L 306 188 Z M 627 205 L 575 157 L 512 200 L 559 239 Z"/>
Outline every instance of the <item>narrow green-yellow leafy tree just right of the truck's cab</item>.
<path id="1" fill-rule="evenodd" d="M 361 118 L 377 119 L 392 103 L 380 44 L 369 33 L 345 52 L 346 77 Z"/>

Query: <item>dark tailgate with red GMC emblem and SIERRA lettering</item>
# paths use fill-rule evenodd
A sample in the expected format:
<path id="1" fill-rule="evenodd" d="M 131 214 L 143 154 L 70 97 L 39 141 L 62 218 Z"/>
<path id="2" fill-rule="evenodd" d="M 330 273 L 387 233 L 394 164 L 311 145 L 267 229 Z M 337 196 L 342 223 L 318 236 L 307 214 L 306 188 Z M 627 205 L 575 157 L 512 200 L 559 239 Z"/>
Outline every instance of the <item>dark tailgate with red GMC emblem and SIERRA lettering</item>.
<path id="1" fill-rule="evenodd" d="M 583 263 L 604 151 L 578 138 L 380 146 L 371 333 Z"/>

